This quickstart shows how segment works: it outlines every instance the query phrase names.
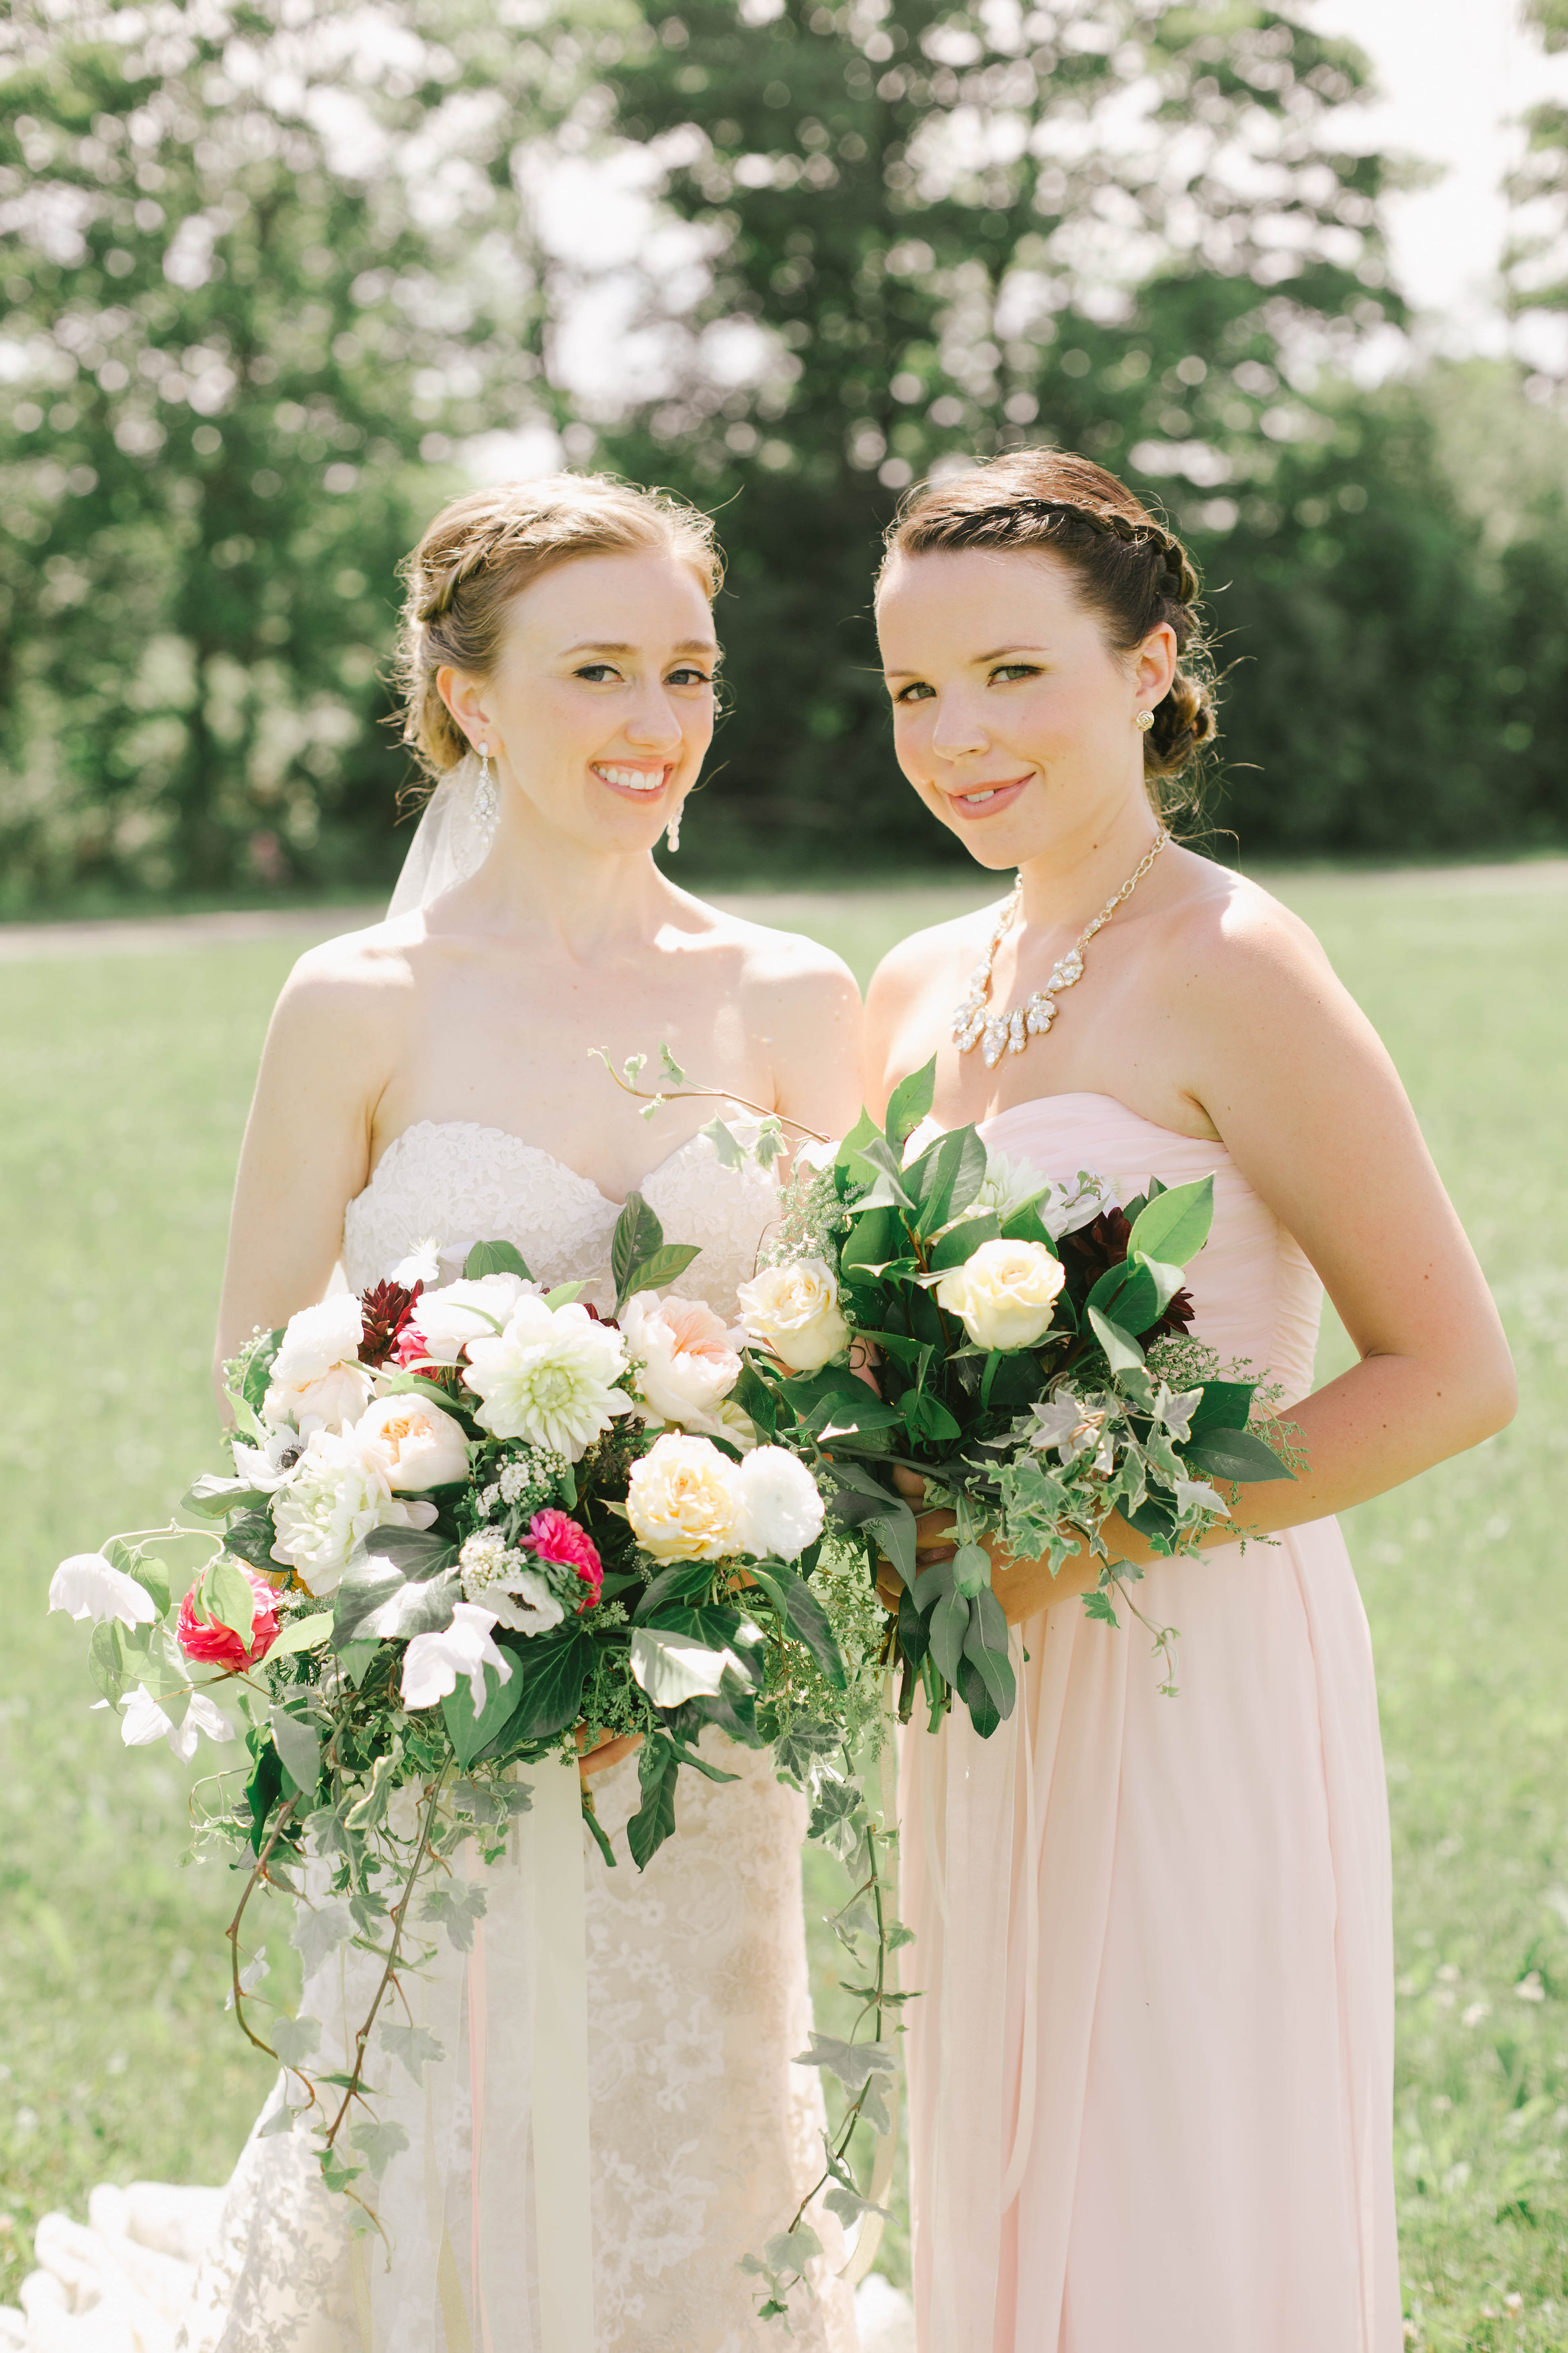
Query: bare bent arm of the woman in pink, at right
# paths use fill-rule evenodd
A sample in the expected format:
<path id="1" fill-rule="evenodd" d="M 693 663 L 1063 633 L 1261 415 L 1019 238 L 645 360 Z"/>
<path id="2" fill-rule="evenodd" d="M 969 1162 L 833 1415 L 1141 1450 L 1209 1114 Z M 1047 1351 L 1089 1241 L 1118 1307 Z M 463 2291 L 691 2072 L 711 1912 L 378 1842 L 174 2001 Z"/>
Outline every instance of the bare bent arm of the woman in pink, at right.
<path id="1" fill-rule="evenodd" d="M 1316 939 L 1251 894 L 1190 922 L 1171 972 L 1199 1118 L 1295 1235 L 1359 1362 L 1291 1407 L 1307 1464 L 1241 1487 L 1206 1539 L 1267 1537 L 1366 1504 L 1495 1435 L 1516 1386 L 1502 1322 L 1394 1064 Z M 1192 1268 L 1201 1301 L 1204 1261 Z M 1201 1318 L 1199 1318 L 1201 1320 Z M 940 1541 L 936 1515 L 924 1541 Z M 1121 1518 L 1112 1555 L 1154 1555 Z M 1095 1584 L 1093 1565 L 997 1560 L 1009 1619 Z"/>

